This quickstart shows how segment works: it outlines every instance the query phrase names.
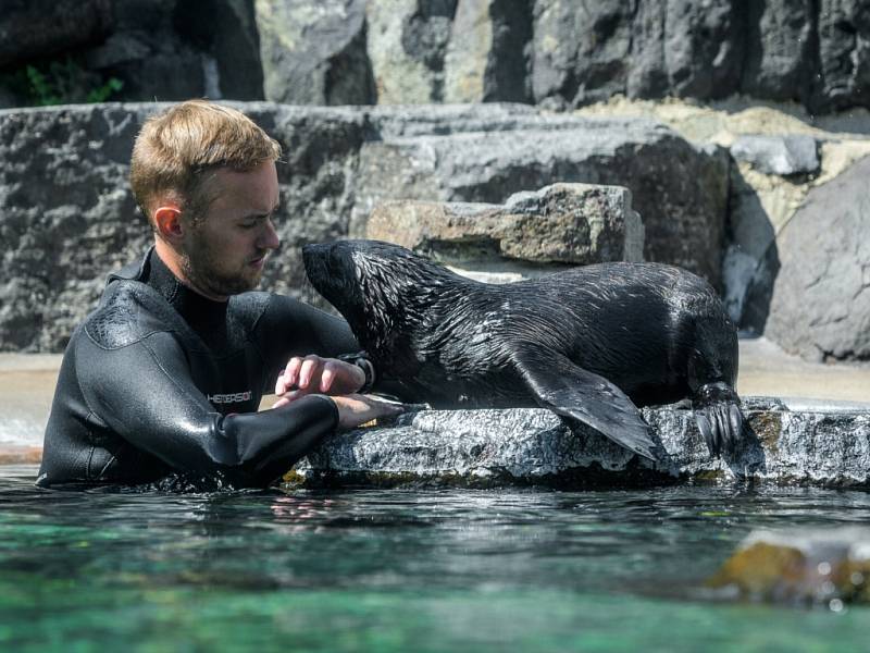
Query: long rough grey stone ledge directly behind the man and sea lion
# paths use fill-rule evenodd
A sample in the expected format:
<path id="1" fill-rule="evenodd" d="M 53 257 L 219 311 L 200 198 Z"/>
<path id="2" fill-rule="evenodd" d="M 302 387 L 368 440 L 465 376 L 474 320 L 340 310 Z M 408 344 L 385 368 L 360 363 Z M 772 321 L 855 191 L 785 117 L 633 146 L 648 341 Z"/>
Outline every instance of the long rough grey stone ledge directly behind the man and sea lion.
<path id="1" fill-rule="evenodd" d="M 151 236 L 127 161 L 160 107 L 0 110 L 0 350 L 62 349 L 104 275 L 145 250 Z M 270 289 L 316 299 L 300 245 L 363 229 L 382 200 L 500 204 L 559 182 L 626 186 L 644 256 L 720 283 L 728 159 L 652 121 L 549 116 L 522 104 L 238 107 L 284 147 L 283 249 L 265 274 Z"/>

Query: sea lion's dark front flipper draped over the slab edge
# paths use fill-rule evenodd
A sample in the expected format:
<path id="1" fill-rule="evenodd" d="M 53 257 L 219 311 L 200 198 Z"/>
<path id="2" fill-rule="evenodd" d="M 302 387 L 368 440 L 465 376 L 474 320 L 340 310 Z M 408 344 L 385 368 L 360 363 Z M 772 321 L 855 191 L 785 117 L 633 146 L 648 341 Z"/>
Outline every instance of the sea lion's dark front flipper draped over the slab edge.
<path id="1" fill-rule="evenodd" d="M 580 420 L 629 451 L 656 460 L 649 426 L 613 383 L 537 344 L 517 345 L 512 359 L 538 404 Z"/>

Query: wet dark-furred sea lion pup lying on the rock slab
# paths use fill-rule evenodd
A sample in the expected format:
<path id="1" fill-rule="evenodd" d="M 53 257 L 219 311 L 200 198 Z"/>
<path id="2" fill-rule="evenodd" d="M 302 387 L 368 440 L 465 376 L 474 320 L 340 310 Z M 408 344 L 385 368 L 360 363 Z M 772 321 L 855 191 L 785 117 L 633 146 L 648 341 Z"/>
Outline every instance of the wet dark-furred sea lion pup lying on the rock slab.
<path id="1" fill-rule="evenodd" d="M 736 330 L 685 270 L 599 263 L 493 285 L 376 241 L 308 245 L 302 256 L 407 401 L 544 406 L 655 460 L 637 406 L 688 398 L 713 455 L 739 438 Z"/>

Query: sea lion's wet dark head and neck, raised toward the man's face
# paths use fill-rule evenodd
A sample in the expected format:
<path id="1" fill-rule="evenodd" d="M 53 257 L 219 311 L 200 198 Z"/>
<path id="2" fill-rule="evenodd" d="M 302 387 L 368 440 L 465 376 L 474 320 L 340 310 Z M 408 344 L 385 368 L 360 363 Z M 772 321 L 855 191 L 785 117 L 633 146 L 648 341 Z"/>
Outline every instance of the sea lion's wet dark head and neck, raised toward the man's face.
<path id="1" fill-rule="evenodd" d="M 382 362 L 410 355 L 433 294 L 455 276 L 412 251 L 380 241 L 338 241 L 302 247 L 314 288 L 345 317 L 360 345 Z M 440 282 L 440 283 L 439 283 Z"/>

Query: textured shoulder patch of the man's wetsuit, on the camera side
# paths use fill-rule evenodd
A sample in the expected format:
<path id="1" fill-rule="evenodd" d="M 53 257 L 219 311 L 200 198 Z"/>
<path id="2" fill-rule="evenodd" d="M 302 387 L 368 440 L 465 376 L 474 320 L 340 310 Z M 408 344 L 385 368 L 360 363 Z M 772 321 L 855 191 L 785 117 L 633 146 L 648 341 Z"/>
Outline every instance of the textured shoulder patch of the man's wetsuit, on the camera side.
<path id="1" fill-rule="evenodd" d="M 105 288 L 100 305 L 85 318 L 79 333 L 87 334 L 99 347 L 119 349 L 154 332 L 172 331 L 174 319 L 146 284 L 119 279 Z"/>

